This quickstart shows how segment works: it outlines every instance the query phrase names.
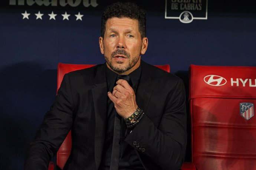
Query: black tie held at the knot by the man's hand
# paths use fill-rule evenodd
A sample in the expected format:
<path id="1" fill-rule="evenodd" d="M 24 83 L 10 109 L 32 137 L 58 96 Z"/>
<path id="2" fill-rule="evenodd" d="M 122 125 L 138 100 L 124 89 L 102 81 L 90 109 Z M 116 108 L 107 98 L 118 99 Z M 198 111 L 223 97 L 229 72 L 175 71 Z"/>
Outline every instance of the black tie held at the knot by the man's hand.
<path id="1" fill-rule="evenodd" d="M 117 75 L 116 81 L 119 79 L 124 79 L 128 81 L 129 85 L 132 87 L 132 81 L 130 76 L 128 75 Z M 116 85 L 115 81 L 115 85 Z M 121 139 L 121 116 L 115 113 L 115 124 L 114 124 L 114 137 L 113 137 L 113 145 L 112 145 L 112 153 L 111 153 L 111 163 L 110 170 L 118 170 L 119 166 L 119 153 L 120 153 L 120 139 Z"/>

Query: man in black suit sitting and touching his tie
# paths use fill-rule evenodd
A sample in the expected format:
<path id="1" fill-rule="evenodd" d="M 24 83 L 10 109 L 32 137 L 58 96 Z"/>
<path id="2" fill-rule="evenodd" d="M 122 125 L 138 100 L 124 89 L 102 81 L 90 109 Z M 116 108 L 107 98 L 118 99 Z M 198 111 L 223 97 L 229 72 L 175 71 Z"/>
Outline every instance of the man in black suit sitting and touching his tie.
<path id="1" fill-rule="evenodd" d="M 25 170 L 46 170 L 70 129 L 72 151 L 65 170 L 181 167 L 184 86 L 176 76 L 141 60 L 148 47 L 145 27 L 145 12 L 135 4 L 105 9 L 99 47 L 106 63 L 64 76 L 27 150 Z"/>

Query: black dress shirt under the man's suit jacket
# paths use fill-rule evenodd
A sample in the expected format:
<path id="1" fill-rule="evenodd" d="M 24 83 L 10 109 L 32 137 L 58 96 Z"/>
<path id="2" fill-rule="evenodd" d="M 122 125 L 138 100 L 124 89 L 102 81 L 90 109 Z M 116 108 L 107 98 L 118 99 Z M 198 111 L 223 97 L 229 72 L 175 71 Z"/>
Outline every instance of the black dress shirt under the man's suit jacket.
<path id="1" fill-rule="evenodd" d="M 108 84 L 108 91 L 112 92 L 115 86 L 117 74 L 106 68 L 106 79 Z M 137 87 L 141 76 L 141 66 L 129 74 L 132 81 L 132 88 L 136 94 Z M 114 120 L 116 110 L 113 102 L 108 98 L 107 101 L 107 125 L 106 137 L 104 143 L 104 150 L 102 153 L 102 160 L 99 170 L 109 170 L 111 163 L 112 143 L 114 138 Z M 122 120 L 122 119 L 121 119 Z M 119 151 L 119 170 L 135 170 L 144 169 L 135 150 L 124 142 L 125 132 L 127 127 L 124 120 L 121 121 L 121 135 L 120 135 L 120 151 Z"/>

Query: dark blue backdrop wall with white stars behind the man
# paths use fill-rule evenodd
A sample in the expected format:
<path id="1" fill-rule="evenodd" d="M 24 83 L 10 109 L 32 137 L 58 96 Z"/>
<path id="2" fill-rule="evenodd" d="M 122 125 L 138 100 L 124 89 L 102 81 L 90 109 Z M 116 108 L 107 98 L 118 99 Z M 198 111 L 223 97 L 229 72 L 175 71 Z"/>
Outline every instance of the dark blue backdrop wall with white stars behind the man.
<path id="1" fill-rule="evenodd" d="M 144 61 L 153 65 L 170 64 L 171 72 L 180 76 L 186 87 L 190 64 L 256 66 L 255 0 L 191 0 L 191 3 L 207 2 L 207 20 L 194 19 L 187 24 L 165 18 L 165 4 L 175 1 L 137 2 L 147 10 L 149 46 L 142 56 Z M 186 1 L 190 0 L 183 2 Z M 1 170 L 23 169 L 25 149 L 56 95 L 58 62 L 104 62 L 98 45 L 101 13 L 112 1 L 51 2 L 0 2 Z M 177 0 L 179 6 L 180 2 Z M 197 11 L 190 11 L 196 17 Z M 48 14 L 52 12 L 57 15 L 51 15 L 50 20 Z M 69 20 L 63 20 L 65 12 L 70 14 Z M 82 20 L 75 16 L 79 12 Z M 170 6 L 167 12 L 172 14 Z M 200 13 L 205 15 L 206 7 Z"/>

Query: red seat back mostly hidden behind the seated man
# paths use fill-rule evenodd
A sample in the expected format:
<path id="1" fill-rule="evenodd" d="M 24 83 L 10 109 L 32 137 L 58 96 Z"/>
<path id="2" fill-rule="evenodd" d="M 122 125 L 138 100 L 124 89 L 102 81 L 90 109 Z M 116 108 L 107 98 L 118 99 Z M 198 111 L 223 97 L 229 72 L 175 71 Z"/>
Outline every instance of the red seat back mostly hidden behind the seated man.
<path id="1" fill-rule="evenodd" d="M 57 91 L 60 87 L 60 84 L 62 82 L 63 76 L 66 73 L 69 73 L 71 71 L 76 71 L 79 69 L 89 68 L 94 65 L 91 64 L 58 64 L 57 69 Z M 161 68 L 167 72 L 170 72 L 170 65 L 155 65 L 158 68 Z M 58 152 L 57 152 L 57 162 L 56 164 L 60 167 L 60 169 L 63 169 L 66 161 L 68 160 L 68 157 L 71 152 L 71 146 L 72 146 L 72 137 L 71 137 L 71 131 L 68 133 L 66 139 L 63 141 L 62 145 L 60 146 Z"/>

